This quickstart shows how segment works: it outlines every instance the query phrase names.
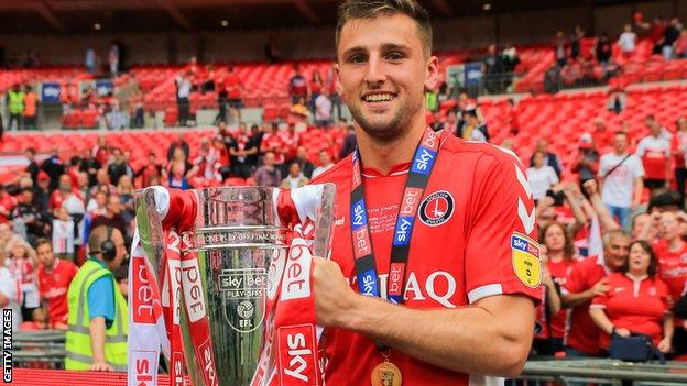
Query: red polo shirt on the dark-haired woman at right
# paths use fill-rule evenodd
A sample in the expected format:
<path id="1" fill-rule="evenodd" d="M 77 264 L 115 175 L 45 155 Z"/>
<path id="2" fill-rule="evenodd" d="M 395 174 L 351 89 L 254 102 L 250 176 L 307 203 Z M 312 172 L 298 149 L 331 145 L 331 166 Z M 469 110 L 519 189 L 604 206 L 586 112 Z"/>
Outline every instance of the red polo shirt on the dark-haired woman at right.
<path id="1" fill-rule="evenodd" d="M 652 337 L 654 344 L 663 335 L 663 317 L 669 311 L 668 287 L 659 278 L 635 279 L 624 273 L 609 275 L 609 291 L 597 296 L 590 307 L 603 308 L 615 328 Z M 599 334 L 599 344 L 608 349 L 611 339 Z"/>

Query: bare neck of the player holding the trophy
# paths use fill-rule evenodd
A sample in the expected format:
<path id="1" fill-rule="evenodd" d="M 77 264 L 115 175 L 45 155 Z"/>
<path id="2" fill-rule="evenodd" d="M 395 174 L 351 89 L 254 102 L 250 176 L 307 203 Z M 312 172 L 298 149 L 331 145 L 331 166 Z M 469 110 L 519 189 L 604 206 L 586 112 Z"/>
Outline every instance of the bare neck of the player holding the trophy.
<path id="1" fill-rule="evenodd" d="M 374 139 L 368 135 L 364 130 L 356 128 L 358 148 L 364 167 L 371 167 L 386 174 L 394 165 L 411 162 L 424 130 L 424 125 L 415 124 L 407 132 L 386 141 Z"/>

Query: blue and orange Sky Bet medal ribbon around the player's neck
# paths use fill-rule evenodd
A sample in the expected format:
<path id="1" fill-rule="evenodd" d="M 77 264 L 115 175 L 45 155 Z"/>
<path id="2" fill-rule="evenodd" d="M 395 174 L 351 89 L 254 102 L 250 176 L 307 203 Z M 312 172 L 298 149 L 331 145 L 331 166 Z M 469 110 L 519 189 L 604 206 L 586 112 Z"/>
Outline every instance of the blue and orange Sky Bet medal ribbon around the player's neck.
<path id="1" fill-rule="evenodd" d="M 413 163 L 405 180 L 403 199 L 399 208 L 391 246 L 386 294 L 389 300 L 399 305 L 403 304 L 405 269 L 411 250 L 413 227 L 417 217 L 417 208 L 429 181 L 438 152 L 439 136 L 432 130 L 425 130 L 425 134 L 415 150 Z M 372 250 L 370 225 L 368 224 L 368 209 L 364 201 L 360 151 L 358 148 L 353 152 L 352 163 L 353 173 L 351 176 L 350 196 L 351 242 L 358 288 L 362 295 L 381 297 L 382 293 Z"/>

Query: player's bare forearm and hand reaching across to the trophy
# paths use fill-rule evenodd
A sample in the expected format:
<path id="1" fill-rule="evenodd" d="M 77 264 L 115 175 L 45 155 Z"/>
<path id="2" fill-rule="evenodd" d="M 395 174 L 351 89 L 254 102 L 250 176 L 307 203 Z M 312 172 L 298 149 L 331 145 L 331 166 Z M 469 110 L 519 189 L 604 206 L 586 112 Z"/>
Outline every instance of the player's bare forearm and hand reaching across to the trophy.
<path id="1" fill-rule="evenodd" d="M 412 309 L 356 294 L 338 264 L 316 258 L 318 323 L 359 332 L 421 361 L 469 374 L 514 376 L 532 343 L 534 304 L 486 297 L 457 309 Z"/>

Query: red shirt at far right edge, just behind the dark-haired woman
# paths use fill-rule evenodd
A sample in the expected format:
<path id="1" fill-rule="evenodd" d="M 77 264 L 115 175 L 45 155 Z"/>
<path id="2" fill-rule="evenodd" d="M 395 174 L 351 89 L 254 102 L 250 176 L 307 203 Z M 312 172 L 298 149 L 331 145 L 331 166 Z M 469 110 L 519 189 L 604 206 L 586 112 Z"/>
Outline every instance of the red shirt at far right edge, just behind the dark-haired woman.
<path id="1" fill-rule="evenodd" d="M 674 300 L 679 299 L 687 282 L 687 243 L 683 249 L 673 252 L 668 249 L 668 241 L 661 239 L 653 245 L 658 257 L 658 277 L 665 282 Z"/>

